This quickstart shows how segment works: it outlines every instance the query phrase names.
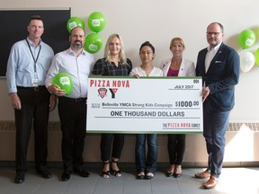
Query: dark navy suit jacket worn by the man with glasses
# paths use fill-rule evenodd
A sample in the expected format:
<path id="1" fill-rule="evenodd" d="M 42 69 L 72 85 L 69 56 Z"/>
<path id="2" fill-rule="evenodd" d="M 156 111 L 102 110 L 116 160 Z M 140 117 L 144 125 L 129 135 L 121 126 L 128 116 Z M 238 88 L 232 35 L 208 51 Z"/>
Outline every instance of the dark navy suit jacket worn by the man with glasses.
<path id="1" fill-rule="evenodd" d="M 239 79 L 239 56 L 233 48 L 222 43 L 210 67 L 205 73 L 205 57 L 208 49 L 199 52 L 196 75 L 209 86 L 210 95 L 204 101 L 212 111 L 232 110 L 235 104 L 235 85 Z"/>

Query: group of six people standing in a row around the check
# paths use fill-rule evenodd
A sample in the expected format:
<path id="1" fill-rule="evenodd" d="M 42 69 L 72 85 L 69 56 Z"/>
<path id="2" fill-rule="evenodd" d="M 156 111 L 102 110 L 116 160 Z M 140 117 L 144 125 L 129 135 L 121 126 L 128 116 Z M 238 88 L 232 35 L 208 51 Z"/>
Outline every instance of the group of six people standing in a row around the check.
<path id="1" fill-rule="evenodd" d="M 195 174 L 196 178 L 210 178 L 203 184 L 205 189 L 214 188 L 222 168 L 225 132 L 228 116 L 234 107 L 234 89 L 238 83 L 239 57 L 237 52 L 225 45 L 223 26 L 212 22 L 207 27 L 208 48 L 199 52 L 196 67 L 192 61 L 183 57 L 185 49 L 181 38 L 170 43 L 172 57 L 164 60 L 160 68 L 153 66 L 155 48 L 144 42 L 139 48 L 141 65 L 132 67 L 125 54 L 123 41 L 119 34 L 112 34 L 105 45 L 104 57 L 96 62 L 94 56 L 84 49 L 85 31 L 74 28 L 70 35 L 70 47 L 54 56 L 52 48 L 41 40 L 44 32 L 43 21 L 39 15 L 31 16 L 27 30 L 29 36 L 13 45 L 8 59 L 6 78 L 8 93 L 14 108 L 16 125 L 16 176 L 15 183 L 25 179 L 27 147 L 34 129 L 35 168 L 43 178 L 52 174 L 46 164 L 49 111 L 54 110 L 58 99 L 58 116 L 62 131 L 62 181 L 70 179 L 75 172 L 88 177 L 83 161 L 86 135 L 87 82 L 89 75 L 109 76 L 202 76 L 204 88 L 203 136 L 209 154 L 208 169 Z M 71 75 L 72 93 L 65 95 L 52 78 L 63 72 Z M 170 166 L 166 176 L 178 178 L 182 175 L 182 162 L 185 150 L 185 134 L 168 135 L 168 154 Z M 146 156 L 147 140 L 147 156 Z M 157 166 L 156 134 L 136 135 L 136 179 L 150 180 Z M 124 145 L 124 134 L 102 134 L 101 160 L 103 178 L 111 174 L 121 177 L 119 160 Z"/>

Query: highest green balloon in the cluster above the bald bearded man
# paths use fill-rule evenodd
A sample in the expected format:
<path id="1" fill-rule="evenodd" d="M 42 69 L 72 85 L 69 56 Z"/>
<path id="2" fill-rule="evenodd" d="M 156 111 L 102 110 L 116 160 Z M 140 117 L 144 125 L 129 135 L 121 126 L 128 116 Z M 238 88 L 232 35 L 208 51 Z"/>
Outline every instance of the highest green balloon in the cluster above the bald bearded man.
<path id="1" fill-rule="evenodd" d="M 103 13 L 94 12 L 88 17 L 88 27 L 91 31 L 99 32 L 102 31 L 106 23 L 106 19 Z"/>

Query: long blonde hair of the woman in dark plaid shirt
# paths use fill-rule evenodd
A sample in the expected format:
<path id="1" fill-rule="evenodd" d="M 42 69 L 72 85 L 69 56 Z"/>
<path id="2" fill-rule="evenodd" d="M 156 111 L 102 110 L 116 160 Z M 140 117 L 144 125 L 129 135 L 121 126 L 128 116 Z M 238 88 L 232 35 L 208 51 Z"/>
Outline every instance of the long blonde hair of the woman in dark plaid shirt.
<path id="1" fill-rule="evenodd" d="M 126 54 L 125 54 L 123 40 L 121 39 L 121 36 L 119 34 L 114 33 L 108 38 L 108 40 L 106 42 L 106 45 L 105 45 L 105 48 L 104 48 L 104 57 L 106 58 L 107 61 L 111 62 L 109 44 L 110 44 L 110 42 L 112 41 L 113 38 L 119 39 L 120 44 L 121 44 L 121 50 L 120 50 L 120 53 L 119 53 L 120 61 L 121 61 L 122 64 L 127 64 L 127 57 L 126 57 Z"/>

